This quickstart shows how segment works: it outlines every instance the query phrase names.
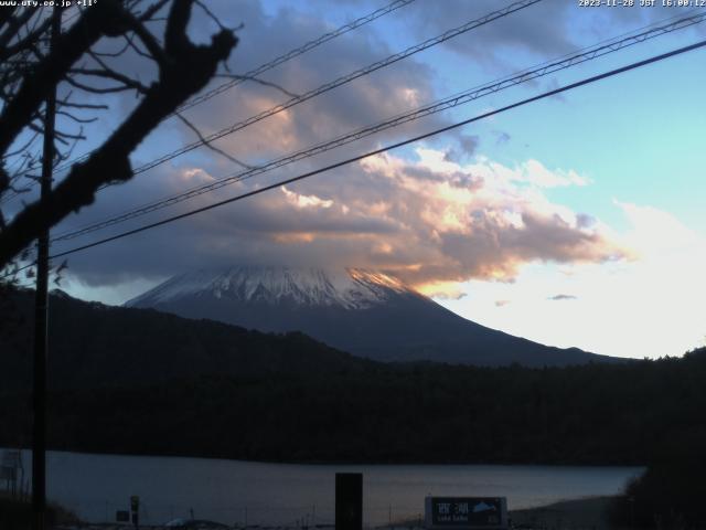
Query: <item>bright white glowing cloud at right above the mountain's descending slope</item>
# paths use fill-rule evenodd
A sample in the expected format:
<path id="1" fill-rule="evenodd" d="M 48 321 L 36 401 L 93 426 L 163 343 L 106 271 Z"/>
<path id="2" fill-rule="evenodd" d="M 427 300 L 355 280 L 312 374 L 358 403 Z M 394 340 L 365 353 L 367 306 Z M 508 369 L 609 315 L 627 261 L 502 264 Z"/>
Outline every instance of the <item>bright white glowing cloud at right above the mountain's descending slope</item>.
<path id="1" fill-rule="evenodd" d="M 527 266 L 512 285 L 467 284 L 472 304 L 442 304 L 483 326 L 563 348 L 639 359 L 694 348 L 704 338 L 706 240 L 672 212 L 616 205 L 628 221 L 625 243 L 640 251 L 631 259 Z M 501 310 L 502 299 L 512 304 Z"/>

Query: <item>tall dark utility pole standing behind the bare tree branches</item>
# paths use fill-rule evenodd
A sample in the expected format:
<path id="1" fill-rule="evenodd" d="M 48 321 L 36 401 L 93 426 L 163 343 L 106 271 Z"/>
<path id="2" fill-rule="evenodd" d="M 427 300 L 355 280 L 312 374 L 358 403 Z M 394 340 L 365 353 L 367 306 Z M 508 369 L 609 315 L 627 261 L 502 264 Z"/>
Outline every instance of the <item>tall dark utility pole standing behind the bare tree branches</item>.
<path id="1" fill-rule="evenodd" d="M 62 10 L 52 12 L 50 54 L 56 49 L 62 29 Z M 52 191 L 54 169 L 54 121 L 56 118 L 56 85 L 46 96 L 44 110 L 44 146 L 42 153 L 41 202 L 46 204 Z M 49 303 L 49 227 L 36 242 L 36 294 L 34 298 L 34 367 L 32 409 L 32 530 L 45 529 L 46 516 L 46 346 Z"/>

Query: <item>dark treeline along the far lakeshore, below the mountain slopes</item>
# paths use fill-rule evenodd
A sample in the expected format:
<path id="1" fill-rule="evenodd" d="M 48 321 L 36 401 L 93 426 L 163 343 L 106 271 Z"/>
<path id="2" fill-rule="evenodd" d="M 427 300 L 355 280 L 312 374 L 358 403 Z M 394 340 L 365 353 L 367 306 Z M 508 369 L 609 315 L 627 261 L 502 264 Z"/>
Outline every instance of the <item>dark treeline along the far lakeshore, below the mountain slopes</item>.
<path id="1" fill-rule="evenodd" d="M 706 351 L 571 368 L 365 364 L 51 394 L 56 449 L 280 462 L 643 465 L 706 447 Z M 0 396 L 1 445 L 30 433 Z"/>

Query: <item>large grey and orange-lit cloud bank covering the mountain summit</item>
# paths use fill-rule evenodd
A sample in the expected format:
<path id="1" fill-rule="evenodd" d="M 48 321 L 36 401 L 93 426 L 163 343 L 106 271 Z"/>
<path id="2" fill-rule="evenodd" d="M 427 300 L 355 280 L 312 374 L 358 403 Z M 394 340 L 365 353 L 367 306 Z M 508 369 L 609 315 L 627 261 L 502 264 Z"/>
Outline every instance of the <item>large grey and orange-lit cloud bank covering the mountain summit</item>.
<path id="1" fill-rule="evenodd" d="M 509 168 L 483 158 L 459 165 L 445 151 L 421 147 L 414 160 L 381 155 L 111 243 L 69 264 L 84 282 L 97 284 L 234 263 L 356 266 L 395 274 L 430 295 L 458 297 L 459 282 L 512 282 L 530 263 L 602 263 L 629 254 L 590 215 L 550 202 L 526 178 L 527 167 L 533 165 Z M 565 173 L 542 168 L 556 179 Z M 167 180 L 183 188 L 210 179 L 203 170 L 182 170 Z"/>

